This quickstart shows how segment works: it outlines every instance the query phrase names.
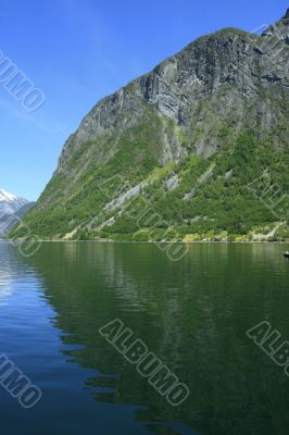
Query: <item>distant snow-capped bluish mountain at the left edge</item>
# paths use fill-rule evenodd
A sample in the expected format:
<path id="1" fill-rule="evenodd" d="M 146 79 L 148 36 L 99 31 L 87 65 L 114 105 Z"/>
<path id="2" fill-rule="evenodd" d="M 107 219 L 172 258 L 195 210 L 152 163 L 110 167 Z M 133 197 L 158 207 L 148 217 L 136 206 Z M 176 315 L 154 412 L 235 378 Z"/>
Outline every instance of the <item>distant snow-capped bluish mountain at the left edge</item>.
<path id="1" fill-rule="evenodd" d="M 0 238 L 18 223 L 33 207 L 27 199 L 16 197 L 0 188 Z"/>

